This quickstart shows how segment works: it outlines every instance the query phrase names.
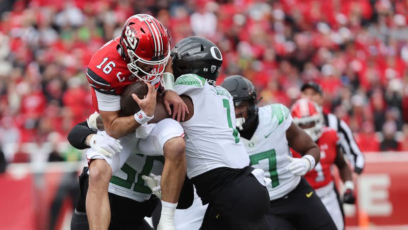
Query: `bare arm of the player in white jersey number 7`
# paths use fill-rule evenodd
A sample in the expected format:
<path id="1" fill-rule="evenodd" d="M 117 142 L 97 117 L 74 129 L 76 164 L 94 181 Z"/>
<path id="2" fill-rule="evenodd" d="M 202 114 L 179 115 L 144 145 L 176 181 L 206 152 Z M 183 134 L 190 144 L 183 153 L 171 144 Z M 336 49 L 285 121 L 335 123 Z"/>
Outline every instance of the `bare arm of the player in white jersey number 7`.
<path id="1" fill-rule="evenodd" d="M 310 138 L 310 136 L 299 126 L 294 124 L 290 125 L 286 131 L 286 138 L 289 143 L 289 147 L 298 152 L 300 155 L 311 155 L 316 160 L 316 164 L 320 160 L 320 149 L 316 143 Z"/>

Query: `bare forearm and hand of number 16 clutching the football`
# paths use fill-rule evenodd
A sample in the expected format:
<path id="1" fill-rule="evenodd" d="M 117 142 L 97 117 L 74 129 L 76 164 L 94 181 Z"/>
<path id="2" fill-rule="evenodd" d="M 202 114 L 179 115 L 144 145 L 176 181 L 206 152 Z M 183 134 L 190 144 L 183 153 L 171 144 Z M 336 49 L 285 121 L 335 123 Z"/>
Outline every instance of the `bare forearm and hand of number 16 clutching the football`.
<path id="1" fill-rule="evenodd" d="M 135 102 L 139 105 L 140 110 L 147 117 L 152 117 L 156 107 L 156 90 L 148 82 L 145 82 L 148 87 L 146 98 L 139 99 L 136 95 L 132 95 Z M 104 122 L 105 130 L 108 135 L 113 138 L 120 138 L 126 134 L 134 132 L 141 124 L 136 121 L 135 116 L 119 117 L 120 110 L 117 111 L 99 111 Z M 143 114 L 142 114 L 143 116 Z"/>

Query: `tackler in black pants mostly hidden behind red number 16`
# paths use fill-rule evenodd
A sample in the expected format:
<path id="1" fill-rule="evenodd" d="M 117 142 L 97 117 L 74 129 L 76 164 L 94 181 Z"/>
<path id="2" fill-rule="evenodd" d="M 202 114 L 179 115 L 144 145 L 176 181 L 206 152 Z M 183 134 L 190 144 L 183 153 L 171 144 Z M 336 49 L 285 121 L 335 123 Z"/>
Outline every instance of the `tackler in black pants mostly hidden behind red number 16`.
<path id="1" fill-rule="evenodd" d="M 89 147 L 105 152 L 106 155 L 119 152 L 117 148 L 120 143 L 116 139 L 96 134 L 97 128 L 103 130 L 103 124 L 98 119 L 96 125 L 96 114 L 92 114 L 87 122 L 82 122 L 72 128 L 68 134 L 71 145 L 77 149 L 87 149 Z M 91 126 L 91 127 L 88 127 Z M 90 139 L 96 141 L 92 143 Z M 140 153 L 132 154 L 120 170 L 115 172 L 109 183 L 109 200 L 111 207 L 111 221 L 109 229 L 143 229 L 153 228 L 144 220 L 150 217 L 156 208 L 160 192 L 153 192 L 146 185 L 150 177 L 147 175 L 160 175 L 163 170 L 164 158 L 160 154 L 157 156 L 146 156 Z M 72 214 L 71 230 L 89 229 L 88 218 L 85 211 L 85 197 L 88 190 L 88 167 L 85 167 L 80 176 L 80 195 L 77 207 Z M 154 178 L 154 177 L 153 177 Z M 146 180 L 147 179 L 147 180 Z M 146 180 L 146 182 L 144 181 Z M 191 206 L 193 199 L 192 184 L 185 181 L 181 192 L 181 200 L 177 209 L 185 209 Z M 184 198 L 184 199 L 183 199 Z"/>

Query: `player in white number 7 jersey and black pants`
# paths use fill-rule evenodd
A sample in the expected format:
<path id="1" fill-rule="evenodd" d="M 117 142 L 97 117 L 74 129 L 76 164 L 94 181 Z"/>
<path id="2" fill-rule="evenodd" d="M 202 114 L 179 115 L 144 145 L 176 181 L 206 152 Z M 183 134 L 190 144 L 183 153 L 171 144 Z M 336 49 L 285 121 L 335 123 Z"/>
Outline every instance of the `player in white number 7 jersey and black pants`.
<path id="1" fill-rule="evenodd" d="M 257 91 L 242 76 L 230 76 L 221 84 L 233 97 L 236 124 L 254 167 L 264 170 L 272 184 L 267 186 L 271 229 L 336 229 L 320 198 L 301 176 L 314 168 L 320 158 L 316 143 L 292 122 L 289 109 L 282 104 L 258 107 Z M 301 152 L 292 158 L 289 147 Z M 177 210 L 177 229 L 197 229 L 202 207 L 196 202 Z M 313 210 L 313 212 L 311 212 Z M 184 214 L 189 216 L 184 218 Z M 186 223 L 187 222 L 187 223 Z"/>

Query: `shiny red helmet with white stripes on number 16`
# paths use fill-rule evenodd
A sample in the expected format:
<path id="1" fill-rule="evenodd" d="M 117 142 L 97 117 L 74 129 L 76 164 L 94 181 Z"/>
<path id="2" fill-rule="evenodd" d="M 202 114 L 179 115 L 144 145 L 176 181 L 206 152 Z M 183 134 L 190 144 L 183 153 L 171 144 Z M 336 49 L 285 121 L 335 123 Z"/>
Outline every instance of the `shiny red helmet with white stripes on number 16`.
<path id="1" fill-rule="evenodd" d="M 153 81 L 161 75 L 170 57 L 170 36 L 156 18 L 136 14 L 124 23 L 120 45 L 127 68 L 143 81 Z M 140 62 L 141 66 L 137 64 Z M 147 68 L 146 68 L 147 67 Z"/>

